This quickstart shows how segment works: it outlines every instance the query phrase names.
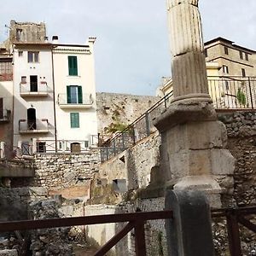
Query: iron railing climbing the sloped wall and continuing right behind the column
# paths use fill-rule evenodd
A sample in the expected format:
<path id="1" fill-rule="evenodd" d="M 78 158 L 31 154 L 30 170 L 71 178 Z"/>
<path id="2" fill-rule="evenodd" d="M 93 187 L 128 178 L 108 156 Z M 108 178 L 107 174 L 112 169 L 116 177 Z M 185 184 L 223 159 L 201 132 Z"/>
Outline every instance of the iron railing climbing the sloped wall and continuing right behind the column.
<path id="1" fill-rule="evenodd" d="M 217 109 L 254 109 L 256 107 L 256 78 L 209 77 L 208 87 L 212 104 Z M 171 104 L 172 97 L 173 91 L 128 125 L 124 131 L 103 143 L 101 145 L 102 162 L 111 159 L 156 131 L 153 119 Z"/>

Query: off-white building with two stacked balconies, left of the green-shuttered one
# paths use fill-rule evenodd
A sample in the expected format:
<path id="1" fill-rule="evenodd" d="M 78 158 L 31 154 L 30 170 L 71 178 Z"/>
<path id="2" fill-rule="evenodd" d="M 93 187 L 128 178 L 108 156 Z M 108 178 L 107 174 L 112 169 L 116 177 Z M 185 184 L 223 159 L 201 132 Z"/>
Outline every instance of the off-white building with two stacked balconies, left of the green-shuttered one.
<path id="1" fill-rule="evenodd" d="M 52 44 L 14 44 L 14 146 L 45 152 L 55 138 Z"/>

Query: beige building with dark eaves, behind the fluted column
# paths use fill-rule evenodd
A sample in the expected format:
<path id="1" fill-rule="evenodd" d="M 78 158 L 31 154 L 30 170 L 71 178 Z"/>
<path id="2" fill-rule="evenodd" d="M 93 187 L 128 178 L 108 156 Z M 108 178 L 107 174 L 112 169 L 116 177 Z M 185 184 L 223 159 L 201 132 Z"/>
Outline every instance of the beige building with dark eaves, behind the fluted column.
<path id="1" fill-rule="evenodd" d="M 215 38 L 205 43 L 205 55 L 208 90 L 215 108 L 255 108 L 256 51 Z M 163 78 L 157 95 L 171 91 L 172 79 Z"/>

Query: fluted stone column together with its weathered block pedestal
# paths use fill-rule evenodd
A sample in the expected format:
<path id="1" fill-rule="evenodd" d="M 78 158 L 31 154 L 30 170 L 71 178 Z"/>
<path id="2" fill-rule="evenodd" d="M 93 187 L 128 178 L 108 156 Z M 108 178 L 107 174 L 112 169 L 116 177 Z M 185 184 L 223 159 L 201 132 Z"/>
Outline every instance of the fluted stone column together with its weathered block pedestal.
<path id="1" fill-rule="evenodd" d="M 167 188 L 204 191 L 221 207 L 218 177 L 232 185 L 235 160 L 226 129 L 208 94 L 198 0 L 167 0 L 174 100 L 154 125 L 161 133 L 161 169 Z"/>

